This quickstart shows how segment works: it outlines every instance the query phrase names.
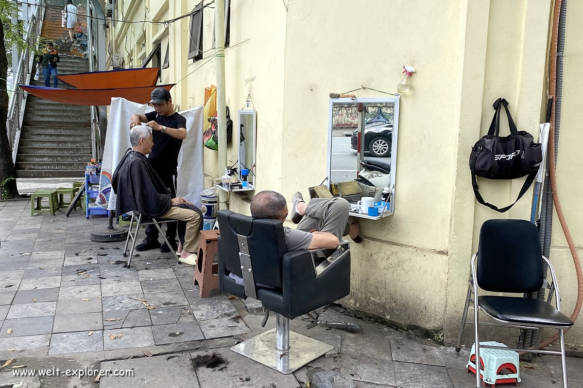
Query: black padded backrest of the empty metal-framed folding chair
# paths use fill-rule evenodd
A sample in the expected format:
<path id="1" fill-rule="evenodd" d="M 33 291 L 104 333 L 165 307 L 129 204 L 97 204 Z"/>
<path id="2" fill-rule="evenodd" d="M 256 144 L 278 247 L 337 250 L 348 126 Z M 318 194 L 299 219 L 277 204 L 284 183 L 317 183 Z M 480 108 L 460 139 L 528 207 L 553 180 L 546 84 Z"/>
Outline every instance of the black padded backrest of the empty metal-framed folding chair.
<path id="1" fill-rule="evenodd" d="M 543 259 L 536 226 L 524 219 L 482 224 L 477 284 L 492 292 L 533 292 L 543 285 Z"/>

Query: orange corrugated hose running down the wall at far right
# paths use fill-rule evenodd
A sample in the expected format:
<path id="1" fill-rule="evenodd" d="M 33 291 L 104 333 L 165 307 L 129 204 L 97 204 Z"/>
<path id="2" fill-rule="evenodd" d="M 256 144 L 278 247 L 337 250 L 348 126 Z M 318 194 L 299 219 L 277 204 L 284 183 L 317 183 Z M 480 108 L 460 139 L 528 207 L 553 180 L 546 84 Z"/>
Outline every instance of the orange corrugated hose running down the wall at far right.
<path id="1" fill-rule="evenodd" d="M 554 5 L 554 21 L 553 21 L 553 34 L 551 43 L 551 65 L 550 65 L 550 82 L 549 89 L 551 95 L 554 97 L 556 95 L 556 71 L 557 71 L 557 40 L 559 39 L 559 17 L 561 13 L 561 3 L 562 0 L 556 0 Z M 554 98 L 553 98 L 554 100 Z M 571 256 L 573 256 L 573 263 L 575 264 L 575 271 L 577 272 L 577 302 L 575 303 L 575 309 L 571 314 L 571 320 L 577 320 L 579 312 L 581 311 L 581 305 L 583 304 L 583 273 L 581 272 L 581 263 L 579 261 L 579 255 L 577 254 L 577 249 L 575 248 L 575 243 L 573 238 L 571 238 L 571 232 L 565 221 L 563 215 L 563 209 L 561 209 L 561 203 L 559 202 L 559 192 L 557 191 L 557 177 L 556 177 L 556 160 L 555 160 L 555 149 L 554 149 L 554 111 L 555 104 L 553 103 L 550 118 L 550 131 L 549 131 L 549 170 L 550 170 L 550 187 L 551 193 L 553 194 L 553 204 L 557 210 L 557 217 L 561 223 L 561 228 L 563 228 L 563 233 L 567 239 L 567 244 L 569 250 L 571 251 Z M 564 330 L 566 332 L 568 329 Z M 559 333 L 554 334 L 552 337 L 547 338 L 545 341 L 541 342 L 540 349 L 545 348 L 552 344 L 553 342 L 559 340 Z M 534 349 L 531 347 L 529 349 Z M 521 352 L 526 354 L 526 352 Z"/>

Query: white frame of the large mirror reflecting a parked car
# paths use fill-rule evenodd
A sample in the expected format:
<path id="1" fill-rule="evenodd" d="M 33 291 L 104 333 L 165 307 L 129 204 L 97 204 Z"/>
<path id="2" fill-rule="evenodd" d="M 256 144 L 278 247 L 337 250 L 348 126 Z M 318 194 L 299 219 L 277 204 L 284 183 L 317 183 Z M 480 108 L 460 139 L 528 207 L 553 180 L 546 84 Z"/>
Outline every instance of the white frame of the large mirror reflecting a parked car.
<path id="1" fill-rule="evenodd" d="M 333 128 L 333 107 L 334 104 L 394 104 L 394 114 L 393 114 L 393 131 L 392 131 L 392 144 L 391 144 L 391 179 L 390 179 L 390 188 L 391 188 L 391 201 L 389 201 L 390 209 L 384 214 L 372 217 L 363 214 L 356 214 L 350 212 L 350 215 L 357 216 L 360 218 L 368 218 L 368 219 L 380 219 L 384 218 L 385 216 L 392 215 L 395 212 L 395 176 L 396 176 L 396 157 L 397 157 L 397 145 L 398 145 L 398 134 L 399 134 L 399 102 L 400 96 L 396 95 L 395 97 L 374 97 L 374 98 L 357 98 L 355 100 L 350 98 L 340 98 L 340 99 L 330 99 L 329 100 L 329 109 L 328 109 L 328 156 L 326 158 L 326 182 L 328 189 L 330 189 L 331 185 L 331 177 L 332 177 L 332 128 Z M 362 154 L 361 154 L 362 155 Z M 357 167 L 358 171 L 360 171 L 361 167 Z M 382 190 L 382 189 L 381 189 Z"/>

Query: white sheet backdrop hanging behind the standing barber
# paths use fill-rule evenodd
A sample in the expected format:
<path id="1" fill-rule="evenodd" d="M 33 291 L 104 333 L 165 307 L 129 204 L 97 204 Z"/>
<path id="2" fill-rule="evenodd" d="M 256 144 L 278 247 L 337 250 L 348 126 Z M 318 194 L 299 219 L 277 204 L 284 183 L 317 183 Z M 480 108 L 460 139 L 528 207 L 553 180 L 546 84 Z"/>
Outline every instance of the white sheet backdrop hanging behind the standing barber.
<path id="1" fill-rule="evenodd" d="M 182 141 L 178 155 L 178 197 L 185 197 L 196 207 L 201 207 L 201 191 L 204 189 L 203 152 L 202 152 L 202 110 L 198 106 L 179 112 L 186 118 L 187 137 Z M 101 164 L 101 180 L 97 203 L 108 210 L 115 210 L 115 194 L 111 190 L 111 176 L 125 151 L 131 147 L 129 142 L 129 121 L 133 114 L 153 111 L 152 107 L 128 101 L 121 97 L 111 99 L 107 120 L 106 144 Z"/>

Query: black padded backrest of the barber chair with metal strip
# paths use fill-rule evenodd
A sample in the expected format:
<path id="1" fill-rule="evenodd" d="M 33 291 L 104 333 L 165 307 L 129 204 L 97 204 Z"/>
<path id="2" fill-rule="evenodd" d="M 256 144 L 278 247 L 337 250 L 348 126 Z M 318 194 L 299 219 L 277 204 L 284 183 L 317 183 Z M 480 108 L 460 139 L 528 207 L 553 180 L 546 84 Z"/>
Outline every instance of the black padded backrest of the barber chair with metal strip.
<path id="1" fill-rule="evenodd" d="M 220 228 L 219 254 L 227 271 L 243 277 L 237 235 L 247 237 L 255 284 L 282 287 L 282 256 L 287 252 L 283 224 L 276 219 L 254 219 L 221 210 L 217 214 Z"/>

